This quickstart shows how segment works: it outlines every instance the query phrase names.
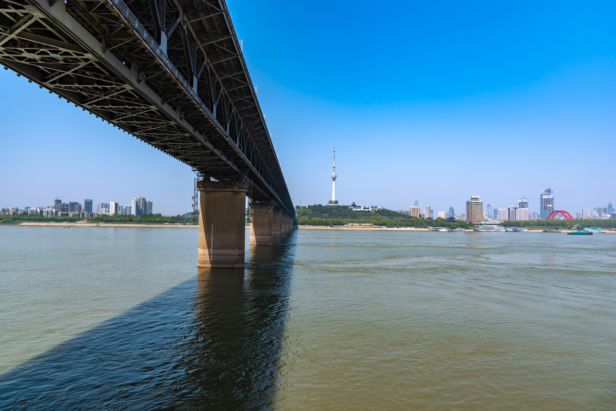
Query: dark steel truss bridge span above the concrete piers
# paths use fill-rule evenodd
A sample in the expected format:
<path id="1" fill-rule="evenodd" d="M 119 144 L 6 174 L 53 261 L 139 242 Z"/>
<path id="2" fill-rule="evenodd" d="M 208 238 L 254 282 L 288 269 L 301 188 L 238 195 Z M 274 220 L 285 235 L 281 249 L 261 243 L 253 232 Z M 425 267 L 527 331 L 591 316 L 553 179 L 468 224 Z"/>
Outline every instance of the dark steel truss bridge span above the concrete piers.
<path id="1" fill-rule="evenodd" d="M 0 0 L 0 63 L 294 215 L 224 0 Z"/>

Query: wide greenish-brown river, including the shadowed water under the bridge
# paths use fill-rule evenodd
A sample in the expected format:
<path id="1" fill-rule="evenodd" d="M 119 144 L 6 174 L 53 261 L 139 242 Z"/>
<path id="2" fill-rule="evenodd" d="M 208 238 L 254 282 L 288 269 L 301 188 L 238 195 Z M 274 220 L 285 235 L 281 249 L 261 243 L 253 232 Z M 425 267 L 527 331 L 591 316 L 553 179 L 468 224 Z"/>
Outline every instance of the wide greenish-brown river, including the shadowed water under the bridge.
<path id="1" fill-rule="evenodd" d="M 0 226 L 0 409 L 616 409 L 616 235 L 296 230 L 196 261 L 196 229 Z"/>

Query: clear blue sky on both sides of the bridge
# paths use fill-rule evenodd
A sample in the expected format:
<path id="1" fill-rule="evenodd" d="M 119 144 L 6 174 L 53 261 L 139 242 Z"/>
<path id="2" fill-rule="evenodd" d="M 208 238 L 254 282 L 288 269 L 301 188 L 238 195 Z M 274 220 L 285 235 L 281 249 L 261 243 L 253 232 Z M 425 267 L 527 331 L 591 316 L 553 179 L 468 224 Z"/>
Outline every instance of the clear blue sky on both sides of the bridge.
<path id="1" fill-rule="evenodd" d="M 227 2 L 295 204 L 616 202 L 614 2 Z M 0 206 L 154 201 L 187 166 L 0 70 Z"/>

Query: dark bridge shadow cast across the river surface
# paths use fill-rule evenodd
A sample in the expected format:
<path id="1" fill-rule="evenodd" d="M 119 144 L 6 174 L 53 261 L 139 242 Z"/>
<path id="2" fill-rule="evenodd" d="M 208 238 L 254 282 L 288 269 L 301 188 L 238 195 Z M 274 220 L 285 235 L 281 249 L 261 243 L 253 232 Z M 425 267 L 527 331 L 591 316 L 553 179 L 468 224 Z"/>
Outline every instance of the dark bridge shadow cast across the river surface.
<path id="1" fill-rule="evenodd" d="M 0 376 L 0 409 L 262 410 L 278 389 L 296 232 Z"/>

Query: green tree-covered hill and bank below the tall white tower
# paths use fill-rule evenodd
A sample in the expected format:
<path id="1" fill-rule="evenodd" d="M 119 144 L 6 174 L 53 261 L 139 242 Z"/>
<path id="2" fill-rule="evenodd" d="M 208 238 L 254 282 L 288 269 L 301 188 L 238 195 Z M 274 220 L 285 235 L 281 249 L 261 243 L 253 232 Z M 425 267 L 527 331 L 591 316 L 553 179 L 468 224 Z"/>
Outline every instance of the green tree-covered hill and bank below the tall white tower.
<path id="1" fill-rule="evenodd" d="M 306 207 L 296 207 L 298 215 L 298 225 L 313 225 L 313 226 L 334 226 L 346 225 L 353 223 L 371 224 L 375 226 L 384 226 L 387 228 L 428 228 L 431 227 L 447 227 L 447 228 L 469 228 L 466 221 L 457 220 L 448 222 L 444 218 L 416 218 L 410 215 L 400 214 L 394 210 L 380 209 L 373 212 L 370 211 L 353 211 L 349 207 L 328 207 L 321 204 L 314 204 Z"/>

